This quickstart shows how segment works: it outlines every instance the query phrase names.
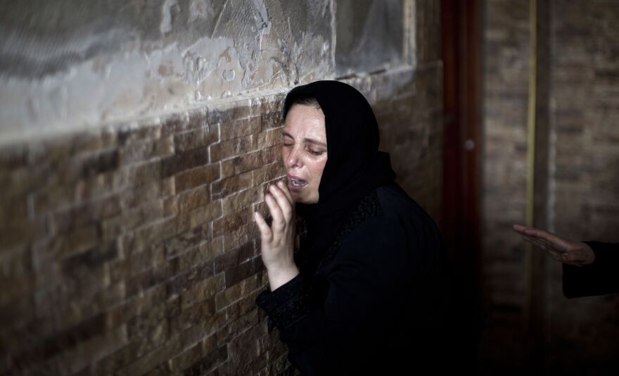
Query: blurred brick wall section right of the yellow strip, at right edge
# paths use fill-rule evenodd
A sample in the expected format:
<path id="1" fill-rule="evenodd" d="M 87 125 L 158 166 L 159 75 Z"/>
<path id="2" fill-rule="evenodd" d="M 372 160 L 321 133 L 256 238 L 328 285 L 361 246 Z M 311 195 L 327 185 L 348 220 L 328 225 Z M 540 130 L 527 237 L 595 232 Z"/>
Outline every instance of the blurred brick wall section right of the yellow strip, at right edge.
<path id="1" fill-rule="evenodd" d="M 619 3 L 553 1 L 554 197 L 551 226 L 571 239 L 619 242 Z M 549 281 L 547 366 L 619 372 L 619 294 L 568 300 Z"/>

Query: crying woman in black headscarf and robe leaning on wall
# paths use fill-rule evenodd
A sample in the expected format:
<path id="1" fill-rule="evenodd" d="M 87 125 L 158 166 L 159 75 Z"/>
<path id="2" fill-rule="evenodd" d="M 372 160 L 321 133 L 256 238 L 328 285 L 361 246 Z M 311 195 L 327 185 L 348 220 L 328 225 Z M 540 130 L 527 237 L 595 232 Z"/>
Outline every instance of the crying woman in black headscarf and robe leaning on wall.
<path id="1" fill-rule="evenodd" d="M 368 102 L 342 82 L 313 82 L 288 93 L 283 118 L 288 183 L 264 197 L 270 227 L 255 213 L 270 285 L 256 303 L 291 363 L 305 375 L 433 363 L 446 297 L 440 235 L 395 184 Z M 307 237 L 293 256 L 295 213 Z"/>

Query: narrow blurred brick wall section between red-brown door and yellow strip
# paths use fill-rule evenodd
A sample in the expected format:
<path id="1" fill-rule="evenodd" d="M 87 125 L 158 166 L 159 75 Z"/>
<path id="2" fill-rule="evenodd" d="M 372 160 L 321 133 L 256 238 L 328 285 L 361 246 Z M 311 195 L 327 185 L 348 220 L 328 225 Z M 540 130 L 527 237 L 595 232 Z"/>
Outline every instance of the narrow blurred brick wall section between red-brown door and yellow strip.
<path id="1" fill-rule="evenodd" d="M 484 31 L 482 368 L 524 365 L 528 1 L 487 1 Z"/>

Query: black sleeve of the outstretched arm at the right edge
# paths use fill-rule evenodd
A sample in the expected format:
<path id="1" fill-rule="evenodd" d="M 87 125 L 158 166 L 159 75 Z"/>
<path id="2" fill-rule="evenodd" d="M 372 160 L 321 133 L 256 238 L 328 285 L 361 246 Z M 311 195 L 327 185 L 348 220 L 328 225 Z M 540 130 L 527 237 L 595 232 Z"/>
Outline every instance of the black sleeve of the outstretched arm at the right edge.
<path id="1" fill-rule="evenodd" d="M 595 253 L 590 265 L 563 264 L 563 295 L 566 298 L 619 292 L 619 244 L 585 242 Z"/>

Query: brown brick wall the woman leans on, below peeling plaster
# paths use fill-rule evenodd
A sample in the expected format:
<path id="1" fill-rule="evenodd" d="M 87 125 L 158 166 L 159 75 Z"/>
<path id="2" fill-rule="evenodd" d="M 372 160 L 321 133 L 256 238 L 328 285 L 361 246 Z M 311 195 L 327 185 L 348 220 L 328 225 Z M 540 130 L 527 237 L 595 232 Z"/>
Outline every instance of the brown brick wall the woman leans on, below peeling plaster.
<path id="1" fill-rule="evenodd" d="M 0 373 L 277 373 L 251 212 L 283 94 L 1 150 Z"/>

